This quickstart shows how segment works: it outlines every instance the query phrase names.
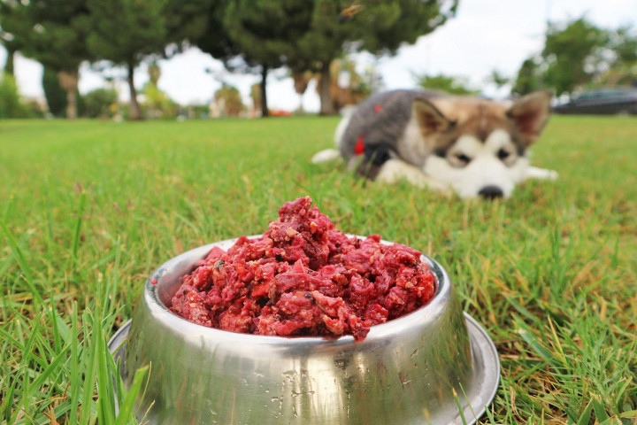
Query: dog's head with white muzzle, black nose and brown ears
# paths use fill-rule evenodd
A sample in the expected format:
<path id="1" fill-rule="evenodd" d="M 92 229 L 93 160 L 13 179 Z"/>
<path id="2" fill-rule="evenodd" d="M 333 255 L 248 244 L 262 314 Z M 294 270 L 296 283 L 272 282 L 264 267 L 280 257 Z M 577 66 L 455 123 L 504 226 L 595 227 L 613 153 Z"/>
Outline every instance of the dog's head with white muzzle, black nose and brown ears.
<path id="1" fill-rule="evenodd" d="M 424 171 L 460 197 L 510 197 L 529 166 L 528 148 L 549 119 L 550 94 L 513 104 L 473 97 L 418 99 L 413 115 L 432 155 Z"/>

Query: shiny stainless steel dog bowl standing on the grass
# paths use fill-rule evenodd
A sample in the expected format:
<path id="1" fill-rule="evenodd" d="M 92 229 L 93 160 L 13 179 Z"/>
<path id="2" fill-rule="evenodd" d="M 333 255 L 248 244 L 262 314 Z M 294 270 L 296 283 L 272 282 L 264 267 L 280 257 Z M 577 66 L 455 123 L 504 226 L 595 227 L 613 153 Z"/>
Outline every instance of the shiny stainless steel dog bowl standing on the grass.
<path id="1" fill-rule="evenodd" d="M 180 277 L 213 246 L 227 250 L 235 241 L 196 248 L 159 267 L 132 324 L 109 343 L 124 383 L 151 365 L 139 406 L 141 414 L 150 407 L 150 423 L 460 424 L 476 421 L 494 398 L 495 346 L 463 314 L 447 272 L 426 256 L 438 281 L 434 299 L 373 326 L 357 343 L 352 336 L 238 334 L 171 313 L 166 305 Z"/>

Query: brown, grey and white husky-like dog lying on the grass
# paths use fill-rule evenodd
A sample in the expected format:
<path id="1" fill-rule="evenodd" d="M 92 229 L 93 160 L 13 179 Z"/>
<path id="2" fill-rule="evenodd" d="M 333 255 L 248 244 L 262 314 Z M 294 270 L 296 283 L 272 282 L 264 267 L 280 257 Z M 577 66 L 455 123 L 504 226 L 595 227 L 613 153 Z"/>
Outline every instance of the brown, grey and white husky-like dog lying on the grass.
<path id="1" fill-rule="evenodd" d="M 372 181 L 406 180 L 463 198 L 510 197 L 519 182 L 557 178 L 528 158 L 549 120 L 550 99 L 548 91 L 508 104 L 434 91 L 380 93 L 344 114 L 338 150 L 320 151 L 312 162 L 342 157 Z"/>

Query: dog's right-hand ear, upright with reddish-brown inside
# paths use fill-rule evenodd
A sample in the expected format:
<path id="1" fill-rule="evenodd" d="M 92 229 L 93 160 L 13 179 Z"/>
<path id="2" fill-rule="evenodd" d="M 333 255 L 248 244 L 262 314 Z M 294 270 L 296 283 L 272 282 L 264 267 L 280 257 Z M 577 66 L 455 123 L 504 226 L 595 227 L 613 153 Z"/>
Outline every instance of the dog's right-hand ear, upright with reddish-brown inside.
<path id="1" fill-rule="evenodd" d="M 533 143 L 549 120 L 551 93 L 535 91 L 520 97 L 507 111 L 513 127 L 528 143 Z"/>

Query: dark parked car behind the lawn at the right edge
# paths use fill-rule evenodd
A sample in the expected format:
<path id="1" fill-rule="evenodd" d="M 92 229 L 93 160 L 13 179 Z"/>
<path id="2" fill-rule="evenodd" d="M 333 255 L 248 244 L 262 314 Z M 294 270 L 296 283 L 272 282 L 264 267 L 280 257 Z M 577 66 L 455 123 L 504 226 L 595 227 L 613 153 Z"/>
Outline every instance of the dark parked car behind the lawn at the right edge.
<path id="1" fill-rule="evenodd" d="M 637 88 L 587 91 L 567 104 L 554 106 L 553 111 L 556 113 L 637 114 Z"/>

